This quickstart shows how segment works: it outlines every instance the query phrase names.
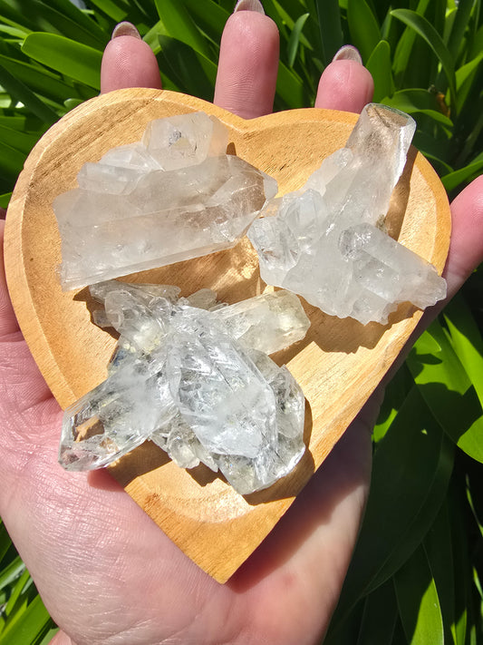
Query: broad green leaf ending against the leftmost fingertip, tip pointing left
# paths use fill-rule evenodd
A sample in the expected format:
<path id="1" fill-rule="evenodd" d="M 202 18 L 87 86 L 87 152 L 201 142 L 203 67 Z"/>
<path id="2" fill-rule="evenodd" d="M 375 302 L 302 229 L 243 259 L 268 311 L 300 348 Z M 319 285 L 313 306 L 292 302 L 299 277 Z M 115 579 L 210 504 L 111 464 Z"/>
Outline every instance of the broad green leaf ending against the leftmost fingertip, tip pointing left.
<path id="1" fill-rule="evenodd" d="M 57 72 L 101 89 L 102 54 L 92 47 L 57 34 L 34 33 L 25 38 L 22 51 Z"/>

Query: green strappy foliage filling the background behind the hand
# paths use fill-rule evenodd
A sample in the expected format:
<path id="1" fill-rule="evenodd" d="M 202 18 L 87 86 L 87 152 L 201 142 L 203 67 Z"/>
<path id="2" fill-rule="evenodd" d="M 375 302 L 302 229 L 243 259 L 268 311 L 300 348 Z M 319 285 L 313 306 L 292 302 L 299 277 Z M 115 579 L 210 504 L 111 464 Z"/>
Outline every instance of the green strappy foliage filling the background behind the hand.
<path id="1" fill-rule="evenodd" d="M 0 206 L 34 143 L 100 89 L 103 47 L 129 20 L 163 87 L 210 101 L 233 0 L 0 0 Z M 312 106 L 354 44 L 374 100 L 409 112 L 414 144 L 454 196 L 483 169 L 480 0 L 265 0 L 281 35 L 275 110 Z M 483 643 L 483 272 L 418 340 L 373 433 L 372 488 L 330 645 Z M 32 540 L 35 539 L 34 534 Z M 301 619 L 303 629 L 303 619 Z M 55 626 L 0 520 L 0 645 Z"/>

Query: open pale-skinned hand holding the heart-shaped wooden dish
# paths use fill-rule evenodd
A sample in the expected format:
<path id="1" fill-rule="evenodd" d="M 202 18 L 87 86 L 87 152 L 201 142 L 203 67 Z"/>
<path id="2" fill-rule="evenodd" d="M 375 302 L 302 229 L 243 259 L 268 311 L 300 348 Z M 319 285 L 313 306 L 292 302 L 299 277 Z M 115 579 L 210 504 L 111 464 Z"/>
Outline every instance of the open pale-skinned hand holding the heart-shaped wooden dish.
<path id="1" fill-rule="evenodd" d="M 237 12 L 223 35 L 216 103 L 246 118 L 270 112 L 277 61 L 275 25 L 256 12 Z M 140 85 L 159 87 L 156 60 L 140 39 L 120 35 L 104 56 L 102 90 Z M 336 61 L 324 72 L 316 105 L 357 112 L 371 93 L 361 64 Z M 452 213 L 450 295 L 483 259 L 481 178 L 455 200 Z M 66 473 L 57 465 L 62 412 L 18 330 L 3 274 L 0 279 L 0 515 L 63 629 L 55 644 L 317 642 L 362 517 L 377 397 L 266 541 L 220 585 L 109 474 Z"/>

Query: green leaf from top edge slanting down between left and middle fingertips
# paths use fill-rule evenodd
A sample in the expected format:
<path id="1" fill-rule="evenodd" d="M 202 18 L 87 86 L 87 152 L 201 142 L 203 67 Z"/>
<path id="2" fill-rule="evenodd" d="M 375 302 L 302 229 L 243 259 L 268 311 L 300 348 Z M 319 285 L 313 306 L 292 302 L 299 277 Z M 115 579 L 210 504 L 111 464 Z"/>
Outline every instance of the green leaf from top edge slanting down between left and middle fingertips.
<path id="1" fill-rule="evenodd" d="M 179 0 L 155 0 L 155 5 L 169 37 L 187 44 L 210 60 L 212 52 L 208 42 L 193 22 L 187 7 Z"/>

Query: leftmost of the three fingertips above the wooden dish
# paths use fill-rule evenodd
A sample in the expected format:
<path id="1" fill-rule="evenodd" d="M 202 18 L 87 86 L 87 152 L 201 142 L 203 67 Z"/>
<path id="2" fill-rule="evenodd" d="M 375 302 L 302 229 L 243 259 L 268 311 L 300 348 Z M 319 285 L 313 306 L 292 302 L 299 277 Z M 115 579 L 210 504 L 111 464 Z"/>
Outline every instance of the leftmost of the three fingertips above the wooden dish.
<path id="1" fill-rule="evenodd" d="M 125 87 L 161 89 L 156 56 L 130 23 L 118 24 L 114 29 L 101 63 L 101 93 Z"/>

